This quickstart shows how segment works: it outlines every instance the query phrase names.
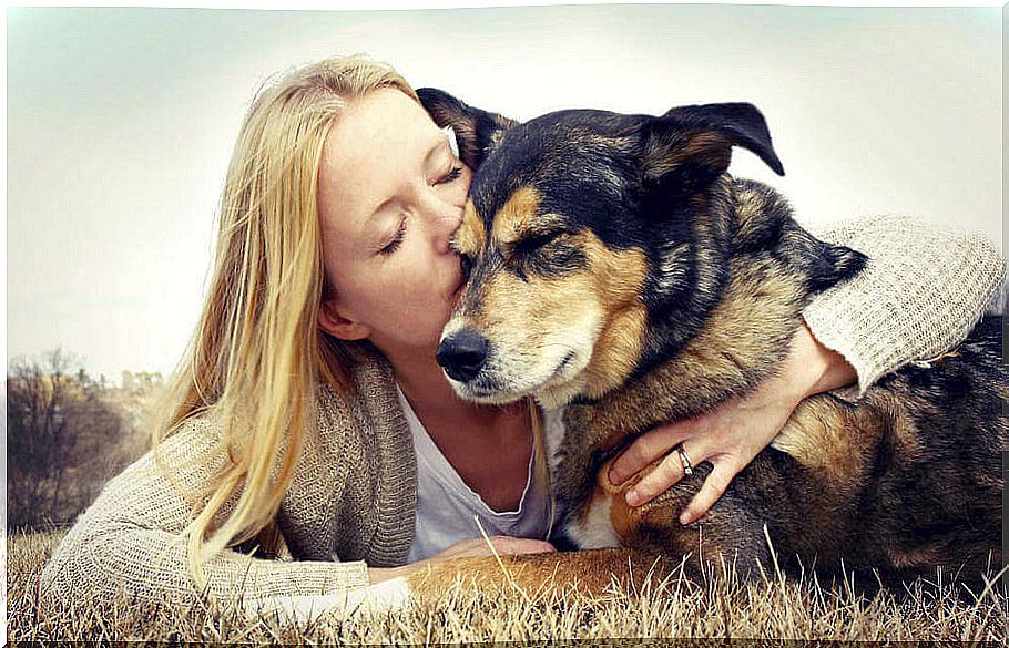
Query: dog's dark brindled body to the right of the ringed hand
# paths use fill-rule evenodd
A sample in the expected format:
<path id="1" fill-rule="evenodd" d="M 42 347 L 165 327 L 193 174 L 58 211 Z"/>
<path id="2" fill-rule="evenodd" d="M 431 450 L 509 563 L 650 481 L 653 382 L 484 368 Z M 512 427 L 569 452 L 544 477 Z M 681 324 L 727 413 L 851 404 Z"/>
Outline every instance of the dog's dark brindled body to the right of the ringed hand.
<path id="1" fill-rule="evenodd" d="M 856 402 L 821 394 L 796 409 L 735 486 L 782 556 L 893 578 L 1000 565 L 1001 326 L 986 318 L 952 352 Z"/>

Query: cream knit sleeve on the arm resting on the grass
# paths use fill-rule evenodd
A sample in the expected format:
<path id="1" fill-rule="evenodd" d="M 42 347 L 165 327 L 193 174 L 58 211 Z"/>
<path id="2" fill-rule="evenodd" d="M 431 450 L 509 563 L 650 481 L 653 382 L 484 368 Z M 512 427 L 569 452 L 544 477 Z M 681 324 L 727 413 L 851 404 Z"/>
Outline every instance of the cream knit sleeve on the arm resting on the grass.
<path id="1" fill-rule="evenodd" d="M 174 474 L 183 487 L 210 477 L 213 464 L 183 462 L 211 452 L 215 434 L 213 423 L 194 420 L 162 444 L 165 465 L 180 466 Z M 190 511 L 147 453 L 78 518 L 42 572 L 41 594 L 64 601 L 125 595 L 192 603 L 206 596 L 249 606 L 281 596 L 337 595 L 369 582 L 364 562 L 267 560 L 224 551 L 204 564 L 206 587 L 197 589 L 180 536 Z"/>

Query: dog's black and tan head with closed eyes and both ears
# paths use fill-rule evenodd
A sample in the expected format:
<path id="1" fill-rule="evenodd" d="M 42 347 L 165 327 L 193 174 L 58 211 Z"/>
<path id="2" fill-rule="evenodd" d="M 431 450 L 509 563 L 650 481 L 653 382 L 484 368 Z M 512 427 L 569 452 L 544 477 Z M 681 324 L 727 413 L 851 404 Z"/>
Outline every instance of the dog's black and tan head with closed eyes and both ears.
<path id="1" fill-rule="evenodd" d="M 469 281 L 438 350 L 470 400 L 598 398 L 683 343 L 725 280 L 732 147 L 783 173 L 750 104 L 519 124 L 418 94 L 476 172 L 453 241 Z"/>

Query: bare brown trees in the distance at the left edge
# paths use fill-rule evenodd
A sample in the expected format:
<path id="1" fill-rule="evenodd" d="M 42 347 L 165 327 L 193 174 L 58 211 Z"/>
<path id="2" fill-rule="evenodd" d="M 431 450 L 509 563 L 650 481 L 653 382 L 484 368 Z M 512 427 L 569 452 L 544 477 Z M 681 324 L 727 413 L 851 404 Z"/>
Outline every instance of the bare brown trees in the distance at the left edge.
<path id="1" fill-rule="evenodd" d="M 139 456 L 146 435 L 61 349 L 17 359 L 7 374 L 8 527 L 73 522 Z"/>

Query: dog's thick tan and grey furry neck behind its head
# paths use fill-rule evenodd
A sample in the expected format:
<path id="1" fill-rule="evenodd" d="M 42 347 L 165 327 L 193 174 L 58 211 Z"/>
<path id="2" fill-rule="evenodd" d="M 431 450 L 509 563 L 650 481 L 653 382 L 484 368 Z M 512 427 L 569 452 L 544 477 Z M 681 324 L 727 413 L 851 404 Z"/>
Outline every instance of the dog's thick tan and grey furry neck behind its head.
<path id="1" fill-rule="evenodd" d="M 786 236 L 802 232 L 770 187 L 736 182 L 727 279 L 702 326 L 666 358 L 581 407 L 589 448 L 607 451 L 659 423 L 707 411 L 744 394 L 773 373 L 788 352 L 808 302 L 806 275 Z M 805 233 L 803 233 L 805 234 Z M 577 407 L 577 405 L 575 405 Z"/>

